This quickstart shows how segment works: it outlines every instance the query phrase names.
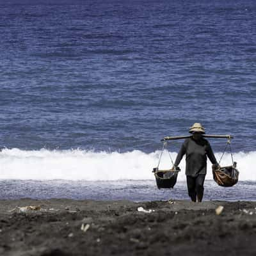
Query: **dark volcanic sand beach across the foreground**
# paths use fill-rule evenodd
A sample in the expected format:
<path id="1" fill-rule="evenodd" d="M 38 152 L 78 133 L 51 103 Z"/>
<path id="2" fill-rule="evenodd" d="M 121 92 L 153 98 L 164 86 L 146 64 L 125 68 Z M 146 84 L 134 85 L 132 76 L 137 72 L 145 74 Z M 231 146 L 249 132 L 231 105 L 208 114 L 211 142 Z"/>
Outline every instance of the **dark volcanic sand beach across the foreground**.
<path id="1" fill-rule="evenodd" d="M 28 205 L 38 207 L 19 208 Z M 216 215 L 219 205 L 224 209 Z M 256 255 L 255 207 L 256 202 L 0 200 L 0 255 Z"/>

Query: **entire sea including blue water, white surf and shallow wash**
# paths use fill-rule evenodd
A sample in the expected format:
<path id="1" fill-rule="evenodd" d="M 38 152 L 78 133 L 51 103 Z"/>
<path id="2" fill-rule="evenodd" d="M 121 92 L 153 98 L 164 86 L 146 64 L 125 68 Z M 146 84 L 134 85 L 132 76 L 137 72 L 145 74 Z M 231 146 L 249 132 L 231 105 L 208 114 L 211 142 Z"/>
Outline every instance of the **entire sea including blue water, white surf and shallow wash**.
<path id="1" fill-rule="evenodd" d="M 255 42 L 250 0 L 1 1 L 0 198 L 188 199 L 152 168 L 200 122 L 240 172 L 205 200 L 255 200 Z"/>

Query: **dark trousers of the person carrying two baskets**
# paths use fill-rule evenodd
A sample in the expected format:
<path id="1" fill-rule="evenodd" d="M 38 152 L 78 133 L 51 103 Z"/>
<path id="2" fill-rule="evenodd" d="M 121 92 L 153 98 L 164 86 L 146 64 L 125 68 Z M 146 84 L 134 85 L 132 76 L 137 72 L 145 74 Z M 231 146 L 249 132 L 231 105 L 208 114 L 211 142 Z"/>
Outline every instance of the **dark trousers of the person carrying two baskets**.
<path id="1" fill-rule="evenodd" d="M 188 195 L 193 202 L 201 202 L 204 196 L 205 174 L 199 174 L 196 177 L 187 176 Z"/>

